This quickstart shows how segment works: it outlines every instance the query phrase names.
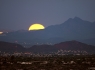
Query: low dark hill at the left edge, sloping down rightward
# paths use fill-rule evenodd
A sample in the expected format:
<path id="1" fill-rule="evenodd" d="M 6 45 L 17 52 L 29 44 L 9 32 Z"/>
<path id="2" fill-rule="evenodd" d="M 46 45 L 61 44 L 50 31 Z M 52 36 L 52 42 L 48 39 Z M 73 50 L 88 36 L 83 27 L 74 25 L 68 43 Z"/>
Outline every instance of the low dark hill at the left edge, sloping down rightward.
<path id="1" fill-rule="evenodd" d="M 19 44 L 0 41 L 1 52 L 24 52 L 25 48 Z"/>

